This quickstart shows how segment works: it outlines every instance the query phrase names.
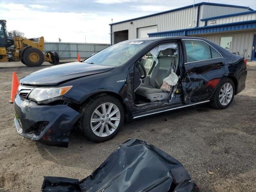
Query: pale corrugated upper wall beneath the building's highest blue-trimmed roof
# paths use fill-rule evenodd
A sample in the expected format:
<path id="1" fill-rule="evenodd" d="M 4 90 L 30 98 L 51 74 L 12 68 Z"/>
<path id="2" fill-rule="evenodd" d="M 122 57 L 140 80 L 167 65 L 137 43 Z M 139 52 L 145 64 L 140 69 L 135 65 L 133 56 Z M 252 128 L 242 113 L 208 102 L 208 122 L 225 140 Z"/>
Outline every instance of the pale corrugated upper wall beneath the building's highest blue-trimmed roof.
<path id="1" fill-rule="evenodd" d="M 246 8 L 235 8 L 235 7 L 225 7 L 225 6 L 213 6 L 213 5 L 201 5 L 199 13 L 198 26 L 204 26 L 204 21 L 202 18 L 209 18 L 214 16 L 247 12 Z M 157 25 L 157 32 L 179 30 L 186 28 L 196 27 L 198 14 L 198 6 L 194 8 L 194 18 L 193 17 L 193 7 L 186 8 L 182 10 L 177 10 L 174 12 L 163 13 L 155 16 L 148 16 L 146 18 L 141 18 L 138 20 L 122 22 L 112 25 L 112 43 L 114 43 L 114 32 L 128 30 L 128 39 L 137 38 L 137 30 L 141 27 Z M 195 22 L 193 22 L 195 21 Z M 132 24 L 131 24 L 132 22 Z M 189 26 L 192 24 L 191 26 Z"/>

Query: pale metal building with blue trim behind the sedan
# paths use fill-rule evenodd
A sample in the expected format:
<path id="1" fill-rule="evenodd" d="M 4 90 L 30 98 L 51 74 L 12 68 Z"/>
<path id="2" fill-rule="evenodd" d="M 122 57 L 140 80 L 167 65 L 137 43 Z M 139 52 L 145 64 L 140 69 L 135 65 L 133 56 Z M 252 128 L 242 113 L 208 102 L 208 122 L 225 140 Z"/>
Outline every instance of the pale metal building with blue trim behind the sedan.
<path id="1" fill-rule="evenodd" d="M 250 7 L 202 2 L 110 24 L 110 42 L 156 37 L 206 38 L 248 60 L 256 60 L 256 11 Z"/>

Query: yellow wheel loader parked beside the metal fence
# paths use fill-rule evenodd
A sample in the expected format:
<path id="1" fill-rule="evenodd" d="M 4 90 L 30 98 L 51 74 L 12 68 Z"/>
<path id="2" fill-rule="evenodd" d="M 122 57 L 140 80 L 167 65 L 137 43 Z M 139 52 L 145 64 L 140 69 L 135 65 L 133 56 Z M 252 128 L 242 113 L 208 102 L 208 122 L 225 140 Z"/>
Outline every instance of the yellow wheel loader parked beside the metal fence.
<path id="1" fill-rule="evenodd" d="M 40 66 L 44 61 L 59 64 L 57 52 L 47 51 L 43 54 L 43 50 L 44 37 L 11 37 L 6 30 L 6 20 L 0 20 L 0 62 L 21 61 L 30 67 Z"/>

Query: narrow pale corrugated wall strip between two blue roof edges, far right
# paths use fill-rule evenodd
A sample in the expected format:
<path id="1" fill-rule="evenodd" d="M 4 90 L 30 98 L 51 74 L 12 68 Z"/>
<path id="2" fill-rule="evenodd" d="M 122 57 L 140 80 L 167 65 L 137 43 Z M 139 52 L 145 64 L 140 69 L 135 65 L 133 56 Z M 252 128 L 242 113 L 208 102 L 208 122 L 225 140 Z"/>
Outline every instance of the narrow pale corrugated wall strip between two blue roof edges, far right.
<path id="1" fill-rule="evenodd" d="M 214 19 L 214 20 L 216 21 L 214 24 L 210 24 L 210 22 L 209 22 L 210 20 L 208 20 L 207 26 L 240 22 L 240 21 L 256 20 L 256 13 L 237 15 L 237 16 L 233 16 L 233 17 L 225 17 L 225 18 L 219 18 L 219 19 Z"/>

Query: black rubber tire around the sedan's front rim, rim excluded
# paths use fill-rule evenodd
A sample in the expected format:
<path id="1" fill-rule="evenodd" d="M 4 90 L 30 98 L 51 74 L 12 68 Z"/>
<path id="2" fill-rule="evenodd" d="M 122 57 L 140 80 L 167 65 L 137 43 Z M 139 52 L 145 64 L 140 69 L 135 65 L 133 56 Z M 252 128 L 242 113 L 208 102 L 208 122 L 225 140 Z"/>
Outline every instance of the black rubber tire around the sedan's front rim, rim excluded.
<path id="1" fill-rule="evenodd" d="M 112 132 L 112 134 L 110 134 L 108 136 L 101 137 L 101 136 L 94 134 L 94 132 L 92 131 L 91 118 L 92 118 L 92 115 L 94 114 L 94 110 L 96 110 L 96 108 L 98 108 L 100 105 L 102 105 L 104 103 L 112 103 L 118 107 L 118 109 L 120 111 L 120 122 L 119 122 L 117 128 L 114 129 L 114 132 Z M 80 122 L 80 128 L 81 128 L 82 132 L 84 133 L 84 136 L 93 142 L 104 142 L 106 140 L 110 140 L 119 132 L 120 128 L 124 124 L 124 108 L 122 106 L 122 103 L 114 96 L 110 96 L 107 94 L 98 94 L 96 96 L 93 96 L 93 98 L 91 98 L 86 104 L 84 104 L 82 111 L 83 111 L 83 114 L 82 114 L 82 119 Z M 100 124 L 102 122 L 97 122 L 97 124 L 98 123 Z M 104 124 L 105 123 L 103 123 L 103 125 Z M 110 130 L 111 130 L 111 128 L 110 128 Z M 106 132 L 105 126 L 104 126 L 103 132 L 104 131 L 106 134 L 107 132 Z"/>

